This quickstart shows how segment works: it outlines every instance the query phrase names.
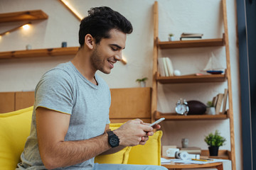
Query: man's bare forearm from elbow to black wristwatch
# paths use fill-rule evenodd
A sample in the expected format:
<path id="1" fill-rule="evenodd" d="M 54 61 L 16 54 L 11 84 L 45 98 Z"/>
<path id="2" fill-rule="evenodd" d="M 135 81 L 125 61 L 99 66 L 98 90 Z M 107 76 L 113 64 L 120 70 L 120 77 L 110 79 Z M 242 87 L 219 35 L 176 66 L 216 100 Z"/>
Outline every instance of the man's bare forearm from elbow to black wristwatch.
<path id="1" fill-rule="evenodd" d="M 89 140 L 58 142 L 52 147 L 40 149 L 40 154 L 46 168 L 55 169 L 85 162 L 110 148 L 104 133 Z"/>

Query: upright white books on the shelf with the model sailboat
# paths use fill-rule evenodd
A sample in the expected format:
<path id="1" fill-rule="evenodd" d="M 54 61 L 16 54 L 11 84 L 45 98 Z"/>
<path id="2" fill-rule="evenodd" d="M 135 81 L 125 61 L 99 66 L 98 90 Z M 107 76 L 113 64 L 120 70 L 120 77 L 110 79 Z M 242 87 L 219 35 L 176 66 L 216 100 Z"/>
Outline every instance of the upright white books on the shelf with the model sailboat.
<path id="1" fill-rule="evenodd" d="M 158 58 L 158 69 L 161 77 L 174 76 L 174 67 L 172 66 L 171 59 L 169 57 Z"/>

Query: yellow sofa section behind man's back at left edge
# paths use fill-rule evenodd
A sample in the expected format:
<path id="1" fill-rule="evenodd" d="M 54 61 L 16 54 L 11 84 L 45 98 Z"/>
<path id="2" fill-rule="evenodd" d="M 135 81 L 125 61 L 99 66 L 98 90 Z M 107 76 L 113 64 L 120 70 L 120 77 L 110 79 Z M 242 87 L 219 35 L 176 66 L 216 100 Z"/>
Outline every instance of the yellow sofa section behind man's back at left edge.
<path id="1" fill-rule="evenodd" d="M 14 170 L 31 128 L 33 106 L 0 114 L 0 169 Z"/>

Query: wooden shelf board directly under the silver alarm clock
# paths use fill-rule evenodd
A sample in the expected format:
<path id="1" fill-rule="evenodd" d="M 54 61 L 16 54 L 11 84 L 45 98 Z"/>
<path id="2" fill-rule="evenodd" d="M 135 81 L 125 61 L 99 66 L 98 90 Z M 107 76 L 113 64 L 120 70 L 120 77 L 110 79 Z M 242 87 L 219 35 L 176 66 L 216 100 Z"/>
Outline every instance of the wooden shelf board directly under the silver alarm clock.
<path id="1" fill-rule="evenodd" d="M 176 113 L 156 112 L 154 118 L 166 118 L 166 120 L 225 120 L 228 115 L 177 115 Z"/>

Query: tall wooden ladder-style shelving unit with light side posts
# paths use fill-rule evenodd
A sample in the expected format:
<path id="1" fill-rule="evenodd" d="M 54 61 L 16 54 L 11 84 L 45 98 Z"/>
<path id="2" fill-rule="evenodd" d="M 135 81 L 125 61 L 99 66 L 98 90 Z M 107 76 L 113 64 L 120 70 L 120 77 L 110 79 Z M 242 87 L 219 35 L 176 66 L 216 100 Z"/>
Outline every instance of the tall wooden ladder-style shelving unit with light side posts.
<path id="1" fill-rule="evenodd" d="M 196 2 L 195 2 L 196 3 Z M 223 38 L 206 39 L 206 40 L 179 40 L 179 41 L 160 41 L 159 40 L 159 11 L 158 2 L 154 3 L 154 57 L 153 57 L 153 84 L 152 84 L 152 98 L 151 98 L 151 118 L 152 121 L 159 118 L 166 118 L 168 121 L 178 120 L 226 120 L 229 119 L 230 124 L 230 151 L 222 151 L 232 162 L 232 169 L 235 169 L 235 139 L 234 139 L 234 124 L 233 124 L 233 101 L 232 101 L 232 89 L 231 89 L 231 77 L 230 77 L 230 52 L 228 44 L 228 23 L 226 13 L 226 2 L 222 0 L 223 6 L 223 25 L 224 32 Z M 178 15 L 178 13 L 177 13 Z M 158 57 L 159 50 L 166 49 L 179 49 L 179 48 L 193 48 L 193 47 L 224 47 L 225 48 L 225 60 L 226 69 L 224 74 L 211 74 L 203 76 L 180 76 L 180 77 L 161 77 L 158 72 Z M 198 48 L 199 49 L 199 48 Z M 176 113 L 160 113 L 157 110 L 157 94 L 158 84 L 191 84 L 191 83 L 209 83 L 209 82 L 226 82 L 228 81 L 228 111 L 227 114 L 219 115 L 187 115 L 181 116 Z M 223 90 L 224 91 L 224 90 Z M 193 91 L 191 91 L 193 93 Z M 207 95 L 207 94 L 206 94 Z M 175 103 L 174 103 L 175 105 Z M 203 151 L 202 154 L 206 154 L 207 151 Z M 223 158 L 223 155 L 220 157 Z"/>

